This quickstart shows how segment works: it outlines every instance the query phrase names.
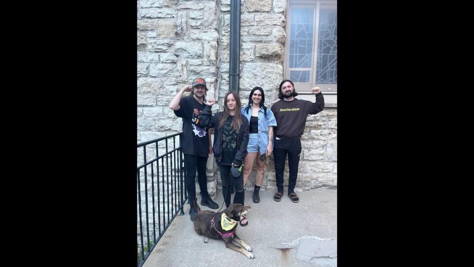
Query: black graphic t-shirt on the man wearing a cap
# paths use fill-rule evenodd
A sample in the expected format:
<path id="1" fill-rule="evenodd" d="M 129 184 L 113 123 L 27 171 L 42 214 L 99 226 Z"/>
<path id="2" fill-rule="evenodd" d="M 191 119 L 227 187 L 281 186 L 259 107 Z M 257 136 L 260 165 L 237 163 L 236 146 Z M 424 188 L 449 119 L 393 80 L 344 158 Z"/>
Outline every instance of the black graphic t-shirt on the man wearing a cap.
<path id="1" fill-rule="evenodd" d="M 201 110 L 206 106 L 197 102 L 194 96 L 186 96 L 179 101 L 179 110 L 176 116 L 183 118 L 183 153 L 201 157 L 209 156 L 209 137 L 207 128 L 196 126 L 196 120 Z"/>

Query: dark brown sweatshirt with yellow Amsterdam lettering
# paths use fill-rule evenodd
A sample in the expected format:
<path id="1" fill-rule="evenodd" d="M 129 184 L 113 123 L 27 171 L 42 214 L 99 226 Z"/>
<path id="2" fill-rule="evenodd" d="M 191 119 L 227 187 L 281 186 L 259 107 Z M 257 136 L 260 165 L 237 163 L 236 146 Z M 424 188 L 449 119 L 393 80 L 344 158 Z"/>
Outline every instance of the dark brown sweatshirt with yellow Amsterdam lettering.
<path id="1" fill-rule="evenodd" d="M 322 93 L 316 94 L 316 102 L 294 98 L 291 101 L 279 100 L 272 105 L 276 119 L 275 137 L 299 139 L 305 131 L 308 114 L 316 114 L 324 108 Z"/>

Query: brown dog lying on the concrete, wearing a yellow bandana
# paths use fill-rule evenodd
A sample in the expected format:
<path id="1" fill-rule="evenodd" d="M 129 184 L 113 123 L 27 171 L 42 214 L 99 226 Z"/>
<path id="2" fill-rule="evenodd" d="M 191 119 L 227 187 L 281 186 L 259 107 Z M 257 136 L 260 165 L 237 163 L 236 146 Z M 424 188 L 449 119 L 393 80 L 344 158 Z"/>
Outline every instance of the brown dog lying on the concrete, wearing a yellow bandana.
<path id="1" fill-rule="evenodd" d="M 205 235 L 214 239 L 222 239 L 226 242 L 226 247 L 233 249 L 247 256 L 249 259 L 255 258 L 250 251 L 252 248 L 245 244 L 242 239 L 237 237 L 237 224 L 244 219 L 244 215 L 250 210 L 250 206 L 241 204 L 231 204 L 229 208 L 215 213 L 213 211 L 201 211 L 197 205 L 197 199 L 194 201 L 194 207 L 197 210 L 196 217 L 193 220 L 194 229 L 200 235 Z M 235 241 L 240 246 L 232 243 Z"/>

